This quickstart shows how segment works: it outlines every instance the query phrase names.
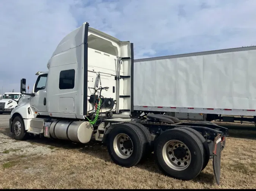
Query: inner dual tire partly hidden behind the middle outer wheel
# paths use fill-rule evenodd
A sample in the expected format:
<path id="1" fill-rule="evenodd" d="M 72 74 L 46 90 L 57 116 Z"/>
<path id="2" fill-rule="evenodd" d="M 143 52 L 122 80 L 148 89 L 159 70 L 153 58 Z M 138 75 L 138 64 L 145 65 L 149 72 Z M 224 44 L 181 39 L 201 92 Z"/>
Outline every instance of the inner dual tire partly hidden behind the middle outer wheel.
<path id="1" fill-rule="evenodd" d="M 151 152 L 153 151 L 154 148 L 152 148 L 152 141 L 151 141 L 151 135 L 149 130 L 142 124 L 140 123 L 130 123 L 132 125 L 135 125 L 138 129 L 141 130 L 141 132 L 144 135 L 144 139 L 146 141 L 145 143 L 145 148 L 143 149 L 143 154 L 142 154 L 142 158 L 141 160 L 146 159 L 146 157 L 149 156 L 149 154 L 151 154 Z"/>

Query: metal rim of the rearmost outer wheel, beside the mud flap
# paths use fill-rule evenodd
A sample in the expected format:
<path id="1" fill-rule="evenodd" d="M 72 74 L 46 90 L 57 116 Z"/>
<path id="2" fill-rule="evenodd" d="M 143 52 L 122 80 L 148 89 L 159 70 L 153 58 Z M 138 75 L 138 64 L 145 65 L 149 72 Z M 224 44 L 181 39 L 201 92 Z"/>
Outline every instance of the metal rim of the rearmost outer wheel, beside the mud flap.
<path id="1" fill-rule="evenodd" d="M 191 162 L 191 153 L 183 142 L 170 140 L 162 150 L 163 160 L 172 169 L 182 171 L 188 168 Z"/>

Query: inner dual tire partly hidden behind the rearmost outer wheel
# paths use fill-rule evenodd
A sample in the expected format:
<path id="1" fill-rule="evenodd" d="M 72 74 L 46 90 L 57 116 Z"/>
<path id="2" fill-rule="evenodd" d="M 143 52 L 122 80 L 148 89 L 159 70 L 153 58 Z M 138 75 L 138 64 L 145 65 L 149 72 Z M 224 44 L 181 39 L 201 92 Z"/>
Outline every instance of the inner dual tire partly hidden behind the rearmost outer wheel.
<path id="1" fill-rule="evenodd" d="M 204 164 L 203 164 L 203 168 L 201 170 L 201 171 L 203 171 L 203 169 L 207 166 L 209 159 L 210 159 L 210 149 L 209 149 L 206 139 L 204 139 L 204 137 L 201 135 L 201 133 L 199 133 L 195 129 L 192 129 L 189 127 L 179 127 L 179 129 L 187 129 L 188 131 L 193 132 L 196 135 L 196 137 L 198 137 L 198 139 L 203 144 L 203 146 L 204 146 Z"/>

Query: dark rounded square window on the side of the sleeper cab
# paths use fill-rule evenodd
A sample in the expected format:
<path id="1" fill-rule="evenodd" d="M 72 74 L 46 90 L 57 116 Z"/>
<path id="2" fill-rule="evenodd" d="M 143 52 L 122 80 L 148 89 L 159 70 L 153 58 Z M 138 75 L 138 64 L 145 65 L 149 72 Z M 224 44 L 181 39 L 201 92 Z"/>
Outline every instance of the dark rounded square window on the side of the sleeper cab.
<path id="1" fill-rule="evenodd" d="M 75 86 L 75 70 L 63 70 L 60 72 L 59 88 L 73 89 Z"/>

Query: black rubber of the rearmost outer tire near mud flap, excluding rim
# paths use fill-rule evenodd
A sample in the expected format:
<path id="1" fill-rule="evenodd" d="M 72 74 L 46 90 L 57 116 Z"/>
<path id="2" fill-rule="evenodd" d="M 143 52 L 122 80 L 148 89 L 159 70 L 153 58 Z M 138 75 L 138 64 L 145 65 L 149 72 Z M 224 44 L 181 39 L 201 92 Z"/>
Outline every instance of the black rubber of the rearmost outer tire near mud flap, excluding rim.
<path id="1" fill-rule="evenodd" d="M 163 147 L 165 143 L 170 140 L 178 140 L 183 142 L 190 151 L 191 159 L 188 167 L 183 170 L 175 170 L 168 166 L 163 158 Z M 201 172 L 204 163 L 203 157 L 203 145 L 198 137 L 192 132 L 186 129 L 170 129 L 157 138 L 155 141 L 154 153 L 156 156 L 156 163 L 159 169 L 167 176 L 181 179 L 181 180 L 192 180 Z"/>

